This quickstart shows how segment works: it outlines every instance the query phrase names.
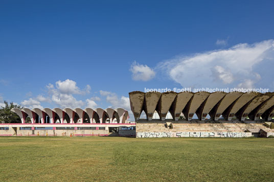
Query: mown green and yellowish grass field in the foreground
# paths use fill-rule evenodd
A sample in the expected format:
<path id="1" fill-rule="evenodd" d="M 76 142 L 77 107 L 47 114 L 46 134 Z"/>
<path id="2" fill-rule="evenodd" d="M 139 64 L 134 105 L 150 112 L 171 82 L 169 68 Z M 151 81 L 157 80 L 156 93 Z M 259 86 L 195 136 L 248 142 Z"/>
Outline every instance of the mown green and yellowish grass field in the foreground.
<path id="1" fill-rule="evenodd" d="M 0 181 L 270 181 L 274 139 L 0 137 Z"/>

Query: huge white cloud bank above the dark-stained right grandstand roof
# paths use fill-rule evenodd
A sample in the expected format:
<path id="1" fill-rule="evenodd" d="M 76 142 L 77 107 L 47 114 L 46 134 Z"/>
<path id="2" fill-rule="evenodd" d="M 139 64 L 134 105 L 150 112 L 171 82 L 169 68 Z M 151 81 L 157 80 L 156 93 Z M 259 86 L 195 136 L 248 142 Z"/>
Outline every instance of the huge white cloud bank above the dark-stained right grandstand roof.
<path id="1" fill-rule="evenodd" d="M 265 60 L 274 60 L 274 40 L 177 57 L 158 64 L 157 69 L 182 87 L 237 87 L 241 83 L 255 87 L 265 72 L 258 65 Z"/>

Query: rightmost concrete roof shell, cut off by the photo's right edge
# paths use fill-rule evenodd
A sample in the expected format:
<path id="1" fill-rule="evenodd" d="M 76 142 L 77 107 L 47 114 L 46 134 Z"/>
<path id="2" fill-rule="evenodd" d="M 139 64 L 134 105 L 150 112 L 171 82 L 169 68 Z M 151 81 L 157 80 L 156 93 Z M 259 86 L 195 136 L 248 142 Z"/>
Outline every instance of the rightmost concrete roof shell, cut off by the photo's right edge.
<path id="1" fill-rule="evenodd" d="M 258 121 L 260 117 L 271 107 L 274 106 L 274 93 L 266 93 L 269 99 L 261 103 L 259 107 L 248 114 L 250 120 Z"/>

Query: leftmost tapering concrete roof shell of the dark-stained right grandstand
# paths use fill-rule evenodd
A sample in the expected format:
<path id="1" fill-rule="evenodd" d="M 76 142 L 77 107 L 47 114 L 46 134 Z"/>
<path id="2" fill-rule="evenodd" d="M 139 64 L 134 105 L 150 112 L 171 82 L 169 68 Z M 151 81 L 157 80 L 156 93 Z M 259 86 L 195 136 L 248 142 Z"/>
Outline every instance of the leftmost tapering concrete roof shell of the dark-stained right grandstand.
<path id="1" fill-rule="evenodd" d="M 145 93 L 140 91 L 129 92 L 129 100 L 131 111 L 134 115 L 135 121 L 137 121 L 143 111 Z"/>

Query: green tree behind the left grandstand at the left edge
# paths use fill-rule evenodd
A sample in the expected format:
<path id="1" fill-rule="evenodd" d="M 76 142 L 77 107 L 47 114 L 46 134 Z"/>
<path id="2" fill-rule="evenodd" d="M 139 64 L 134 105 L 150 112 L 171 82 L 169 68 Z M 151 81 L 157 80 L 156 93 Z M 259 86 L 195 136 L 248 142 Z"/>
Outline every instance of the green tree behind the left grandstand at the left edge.
<path id="1" fill-rule="evenodd" d="M 5 107 L 0 109 L 0 123 L 21 123 L 20 117 L 11 111 L 12 108 L 22 109 L 19 105 L 14 105 L 13 102 L 10 104 L 7 101 L 4 101 Z"/>

